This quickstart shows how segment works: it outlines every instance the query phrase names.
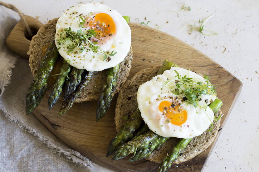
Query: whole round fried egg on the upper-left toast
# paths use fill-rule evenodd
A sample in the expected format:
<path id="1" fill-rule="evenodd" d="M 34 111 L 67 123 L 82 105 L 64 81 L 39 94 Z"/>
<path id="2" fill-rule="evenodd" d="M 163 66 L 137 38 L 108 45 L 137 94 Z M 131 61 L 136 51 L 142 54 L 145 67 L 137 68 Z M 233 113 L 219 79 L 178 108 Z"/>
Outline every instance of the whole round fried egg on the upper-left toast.
<path id="1" fill-rule="evenodd" d="M 88 29 L 93 29 L 96 36 L 88 40 L 98 46 L 97 52 L 92 50 L 88 40 L 74 45 L 71 45 L 69 39 L 61 43 L 59 40 L 66 38 L 66 28 L 74 33 L 88 33 Z M 130 50 L 131 32 L 125 19 L 116 10 L 100 3 L 79 4 L 65 10 L 58 19 L 55 43 L 60 55 L 71 66 L 87 71 L 101 71 L 123 61 Z"/>

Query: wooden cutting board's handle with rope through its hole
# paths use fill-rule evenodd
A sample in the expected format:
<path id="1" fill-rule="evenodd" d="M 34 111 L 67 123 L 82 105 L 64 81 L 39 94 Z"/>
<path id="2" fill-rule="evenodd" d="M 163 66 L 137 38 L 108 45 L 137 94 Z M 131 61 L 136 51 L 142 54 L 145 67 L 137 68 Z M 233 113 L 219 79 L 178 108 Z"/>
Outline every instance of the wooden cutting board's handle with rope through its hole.
<path id="1" fill-rule="evenodd" d="M 24 16 L 25 21 L 28 23 L 34 35 L 37 34 L 38 30 L 43 24 L 36 18 L 30 16 Z M 25 35 L 25 28 L 22 25 L 21 20 L 15 25 L 10 34 L 6 39 L 7 48 L 22 58 L 29 58 L 27 52 L 29 51 L 30 43 L 32 38 L 27 38 Z"/>

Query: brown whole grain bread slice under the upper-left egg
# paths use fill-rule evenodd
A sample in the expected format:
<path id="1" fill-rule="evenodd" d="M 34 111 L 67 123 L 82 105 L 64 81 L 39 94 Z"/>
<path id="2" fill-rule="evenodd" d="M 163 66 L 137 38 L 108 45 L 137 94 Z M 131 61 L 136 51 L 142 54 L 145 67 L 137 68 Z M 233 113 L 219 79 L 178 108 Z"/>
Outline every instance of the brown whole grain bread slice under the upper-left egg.
<path id="1" fill-rule="evenodd" d="M 54 40 L 54 36 L 56 34 L 56 23 L 58 18 L 54 18 L 50 20 L 47 24 L 42 26 L 39 29 L 37 35 L 32 38 L 32 42 L 30 44 L 30 49 L 28 51 L 28 55 L 30 56 L 29 62 L 32 71 L 33 77 L 37 75 L 37 70 L 40 66 L 40 61 L 44 57 L 46 53 L 46 48 L 49 43 Z M 124 60 L 120 63 L 120 71 L 118 73 L 117 78 L 117 88 L 115 90 L 115 94 L 122 88 L 126 79 L 129 76 L 130 68 L 132 61 L 132 48 L 130 48 L 129 53 L 124 58 Z M 51 75 L 60 73 L 60 68 L 62 65 L 62 59 L 59 58 L 51 72 Z M 57 76 L 50 76 L 48 79 L 48 89 L 47 93 L 49 94 L 51 88 L 53 87 Z M 100 96 L 100 89 L 106 82 L 106 70 L 95 72 L 91 78 L 91 81 L 88 85 L 82 90 L 79 97 L 75 100 L 75 102 L 83 102 L 83 101 L 91 101 L 96 100 Z M 60 99 L 64 99 L 64 93 L 61 94 Z"/>

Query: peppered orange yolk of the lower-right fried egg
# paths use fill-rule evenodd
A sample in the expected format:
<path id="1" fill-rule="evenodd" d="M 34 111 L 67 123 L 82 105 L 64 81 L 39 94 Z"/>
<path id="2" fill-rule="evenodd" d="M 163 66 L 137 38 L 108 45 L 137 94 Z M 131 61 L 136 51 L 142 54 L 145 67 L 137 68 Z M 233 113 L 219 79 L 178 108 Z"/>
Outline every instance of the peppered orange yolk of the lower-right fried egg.
<path id="1" fill-rule="evenodd" d="M 166 115 L 166 118 L 174 125 L 182 125 L 187 120 L 187 111 L 183 109 L 179 109 L 179 106 L 171 106 L 167 100 L 162 101 L 159 104 L 159 110 Z"/>

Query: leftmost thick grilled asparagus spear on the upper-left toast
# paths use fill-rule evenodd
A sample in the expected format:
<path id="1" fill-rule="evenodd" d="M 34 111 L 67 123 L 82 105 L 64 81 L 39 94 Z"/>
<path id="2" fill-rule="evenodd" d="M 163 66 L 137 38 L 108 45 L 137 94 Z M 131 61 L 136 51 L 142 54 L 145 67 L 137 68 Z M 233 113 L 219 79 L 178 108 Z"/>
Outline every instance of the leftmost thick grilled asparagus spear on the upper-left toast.
<path id="1" fill-rule="evenodd" d="M 33 80 L 30 89 L 26 95 L 26 114 L 30 114 L 43 99 L 43 95 L 47 89 L 47 80 L 56 63 L 58 50 L 53 41 L 47 48 L 44 58 L 41 60 L 41 66 L 38 70 L 36 78 Z"/>

